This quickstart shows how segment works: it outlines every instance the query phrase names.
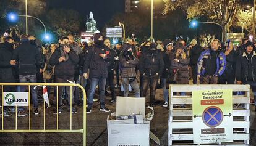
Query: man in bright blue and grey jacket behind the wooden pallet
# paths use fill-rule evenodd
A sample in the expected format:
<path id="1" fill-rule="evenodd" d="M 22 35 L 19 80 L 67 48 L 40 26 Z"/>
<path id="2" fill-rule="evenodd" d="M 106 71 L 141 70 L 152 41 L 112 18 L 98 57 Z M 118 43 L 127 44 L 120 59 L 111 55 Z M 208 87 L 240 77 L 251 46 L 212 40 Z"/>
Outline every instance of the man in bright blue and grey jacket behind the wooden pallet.
<path id="1" fill-rule="evenodd" d="M 218 76 L 224 73 L 226 56 L 219 51 L 220 44 L 220 40 L 213 39 L 211 48 L 200 54 L 197 62 L 197 79 L 200 84 L 217 84 Z"/>

